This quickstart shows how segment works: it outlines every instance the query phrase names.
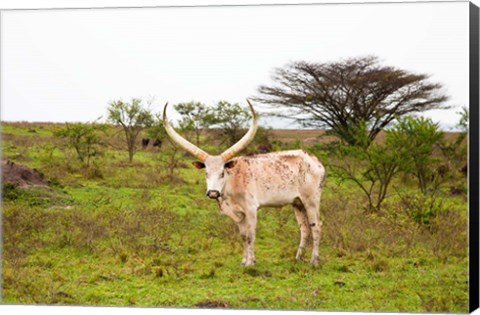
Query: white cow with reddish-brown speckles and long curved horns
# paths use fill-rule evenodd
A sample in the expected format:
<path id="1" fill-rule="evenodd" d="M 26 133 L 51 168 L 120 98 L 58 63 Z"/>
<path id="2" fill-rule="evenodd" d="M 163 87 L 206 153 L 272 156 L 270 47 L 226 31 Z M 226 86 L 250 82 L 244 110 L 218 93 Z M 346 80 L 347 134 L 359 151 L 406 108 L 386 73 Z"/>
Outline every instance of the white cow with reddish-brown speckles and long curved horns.
<path id="1" fill-rule="evenodd" d="M 311 264 L 318 265 L 318 246 L 322 223 L 319 218 L 320 195 L 325 168 L 313 155 L 303 150 L 281 151 L 254 156 L 234 156 L 254 138 L 257 119 L 253 106 L 252 125 L 240 141 L 221 155 L 209 155 L 181 137 L 169 124 L 163 111 L 165 130 L 174 143 L 197 157 L 193 162 L 205 168 L 207 196 L 216 199 L 222 213 L 232 218 L 244 241 L 243 266 L 255 263 L 254 242 L 257 210 L 260 207 L 293 205 L 301 240 L 296 259 L 302 260 L 310 233 L 313 238 Z"/>

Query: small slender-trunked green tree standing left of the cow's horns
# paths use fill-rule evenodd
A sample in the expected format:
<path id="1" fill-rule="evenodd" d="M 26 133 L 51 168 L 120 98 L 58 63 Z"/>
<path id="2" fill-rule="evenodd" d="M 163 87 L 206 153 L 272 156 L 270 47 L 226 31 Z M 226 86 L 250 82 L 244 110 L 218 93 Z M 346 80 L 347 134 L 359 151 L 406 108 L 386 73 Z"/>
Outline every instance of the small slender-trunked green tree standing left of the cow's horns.
<path id="1" fill-rule="evenodd" d="M 108 121 L 120 125 L 125 133 L 128 149 L 128 160 L 132 162 L 136 151 L 138 134 L 153 123 L 150 110 L 142 105 L 142 101 L 133 98 L 130 103 L 113 101 L 108 105 Z"/>

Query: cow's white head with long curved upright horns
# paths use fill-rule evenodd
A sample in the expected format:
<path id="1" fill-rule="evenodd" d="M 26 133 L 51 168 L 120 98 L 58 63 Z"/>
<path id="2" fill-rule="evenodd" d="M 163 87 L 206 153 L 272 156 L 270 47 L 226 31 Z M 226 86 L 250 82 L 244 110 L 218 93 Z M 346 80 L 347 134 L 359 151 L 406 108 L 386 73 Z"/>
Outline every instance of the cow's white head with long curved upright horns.
<path id="1" fill-rule="evenodd" d="M 193 162 L 193 165 L 202 169 L 205 168 L 207 178 L 207 196 L 212 199 L 218 199 L 222 196 L 225 188 L 225 182 L 228 178 L 227 169 L 235 166 L 235 160 L 231 160 L 238 152 L 242 151 L 255 137 L 257 132 L 257 117 L 252 104 L 247 100 L 252 111 L 252 125 L 248 132 L 233 146 L 228 148 L 220 155 L 210 155 L 180 136 L 167 120 L 167 104 L 163 109 L 163 124 L 167 134 L 172 141 L 185 151 L 195 156 L 199 161 Z"/>

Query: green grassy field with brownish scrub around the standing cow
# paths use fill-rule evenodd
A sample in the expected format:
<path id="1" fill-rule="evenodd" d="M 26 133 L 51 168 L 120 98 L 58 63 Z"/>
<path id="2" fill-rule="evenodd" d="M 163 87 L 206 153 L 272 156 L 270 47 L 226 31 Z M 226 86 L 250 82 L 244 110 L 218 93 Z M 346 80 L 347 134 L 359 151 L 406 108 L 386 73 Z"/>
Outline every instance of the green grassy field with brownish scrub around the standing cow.
<path id="1" fill-rule="evenodd" d="M 444 183 L 443 210 L 428 227 L 409 219 L 393 190 L 385 211 L 370 214 L 356 186 L 327 175 L 320 266 L 308 264 L 309 250 L 307 261 L 294 260 L 300 235 L 284 207 L 260 210 L 256 265 L 242 268 L 236 226 L 205 197 L 204 173 L 183 152 L 172 172 L 168 145 L 139 150 L 129 164 L 121 139 L 110 135 L 112 145 L 84 170 L 53 137 L 55 128 L 61 125 L 2 124 L 3 159 L 49 180 L 46 187 L 3 186 L 3 303 L 468 310 L 467 199 L 449 193 L 466 187 L 461 174 Z M 282 130 L 272 137 L 275 149 L 322 156 L 321 134 Z M 409 178 L 393 186 L 417 193 Z"/>

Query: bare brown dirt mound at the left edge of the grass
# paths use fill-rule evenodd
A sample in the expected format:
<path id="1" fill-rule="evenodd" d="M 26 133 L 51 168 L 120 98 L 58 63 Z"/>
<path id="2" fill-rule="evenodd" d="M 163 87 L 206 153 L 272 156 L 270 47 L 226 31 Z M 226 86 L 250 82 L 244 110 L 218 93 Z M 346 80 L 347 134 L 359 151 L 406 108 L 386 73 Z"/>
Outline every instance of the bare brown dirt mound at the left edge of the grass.
<path id="1" fill-rule="evenodd" d="M 18 187 L 48 186 L 43 174 L 12 161 L 2 161 L 2 183 Z"/>

